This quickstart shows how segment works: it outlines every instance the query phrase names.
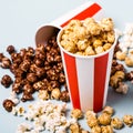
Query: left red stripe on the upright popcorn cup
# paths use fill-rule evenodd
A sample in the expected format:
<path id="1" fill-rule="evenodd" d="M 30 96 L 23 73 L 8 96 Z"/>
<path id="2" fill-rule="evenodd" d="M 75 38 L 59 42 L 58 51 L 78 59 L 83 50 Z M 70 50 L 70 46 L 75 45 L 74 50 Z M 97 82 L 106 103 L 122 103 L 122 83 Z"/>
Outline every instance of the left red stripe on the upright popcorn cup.
<path id="1" fill-rule="evenodd" d="M 81 109 L 75 58 L 63 52 L 66 76 L 74 109 Z"/>

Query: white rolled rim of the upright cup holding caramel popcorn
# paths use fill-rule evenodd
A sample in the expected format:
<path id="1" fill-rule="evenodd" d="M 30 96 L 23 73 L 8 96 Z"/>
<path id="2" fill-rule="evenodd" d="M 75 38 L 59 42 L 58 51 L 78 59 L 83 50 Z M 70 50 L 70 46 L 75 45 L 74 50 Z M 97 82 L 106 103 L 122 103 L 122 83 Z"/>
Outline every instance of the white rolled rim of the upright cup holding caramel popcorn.
<path id="1" fill-rule="evenodd" d="M 114 40 L 114 43 L 112 44 L 112 47 L 111 47 L 109 50 L 106 50 L 106 51 L 104 51 L 104 52 L 102 52 L 102 53 L 99 53 L 99 54 L 94 54 L 94 55 L 80 55 L 80 54 L 74 54 L 74 53 L 71 53 L 71 52 L 66 51 L 66 50 L 61 45 L 61 43 L 60 43 L 60 38 L 61 38 L 62 32 L 64 31 L 64 29 L 65 29 L 65 28 L 62 28 L 62 29 L 59 31 L 59 33 L 58 33 L 58 37 L 57 37 L 58 45 L 59 45 L 59 48 L 60 48 L 64 53 L 66 53 L 66 54 L 69 54 L 69 55 L 71 55 L 71 57 L 74 57 L 74 58 L 93 59 L 93 58 L 102 57 L 102 55 L 109 53 L 112 49 L 114 49 L 114 47 L 115 47 L 116 43 L 117 43 L 117 39 L 119 39 L 119 34 L 117 34 L 117 32 L 116 32 L 116 29 L 114 29 L 115 40 Z"/>

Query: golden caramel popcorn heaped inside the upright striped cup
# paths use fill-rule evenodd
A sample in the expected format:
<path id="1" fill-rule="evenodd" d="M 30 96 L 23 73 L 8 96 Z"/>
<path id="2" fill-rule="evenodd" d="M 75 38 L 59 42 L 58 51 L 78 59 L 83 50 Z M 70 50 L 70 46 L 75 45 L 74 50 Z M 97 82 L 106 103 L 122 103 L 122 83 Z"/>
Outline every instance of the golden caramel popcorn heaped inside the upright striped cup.
<path id="1" fill-rule="evenodd" d="M 114 23 L 111 18 L 95 21 L 71 20 L 61 31 L 60 44 L 68 52 L 79 55 L 95 55 L 109 50 L 115 40 Z"/>

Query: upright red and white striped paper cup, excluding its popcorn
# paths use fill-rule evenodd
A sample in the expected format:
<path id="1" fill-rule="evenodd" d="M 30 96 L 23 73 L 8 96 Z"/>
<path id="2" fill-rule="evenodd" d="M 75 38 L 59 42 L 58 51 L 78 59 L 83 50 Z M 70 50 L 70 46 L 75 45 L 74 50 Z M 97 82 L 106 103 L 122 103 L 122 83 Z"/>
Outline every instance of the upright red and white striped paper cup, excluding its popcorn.
<path id="1" fill-rule="evenodd" d="M 90 57 L 68 52 L 60 44 L 63 30 L 58 34 L 58 44 L 61 50 L 66 84 L 74 109 L 99 112 L 106 103 L 114 44 L 108 51 Z"/>

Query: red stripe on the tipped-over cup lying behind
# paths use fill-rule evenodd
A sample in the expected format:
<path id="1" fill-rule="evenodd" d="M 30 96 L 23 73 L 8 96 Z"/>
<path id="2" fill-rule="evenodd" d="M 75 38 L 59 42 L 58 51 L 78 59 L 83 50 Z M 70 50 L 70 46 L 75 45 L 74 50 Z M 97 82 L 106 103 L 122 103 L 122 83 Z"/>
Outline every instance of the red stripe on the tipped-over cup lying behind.
<path id="1" fill-rule="evenodd" d="M 83 10 L 82 12 L 80 12 L 79 14 L 76 14 L 75 17 L 71 18 L 72 19 L 79 19 L 79 20 L 84 20 L 89 17 L 93 17 L 96 12 L 99 12 L 102 8 L 98 4 L 98 3 L 93 3 L 92 6 L 90 6 L 88 9 Z M 61 24 L 61 27 L 64 27 L 69 23 L 68 20 L 66 22 L 64 22 L 63 24 Z"/>

